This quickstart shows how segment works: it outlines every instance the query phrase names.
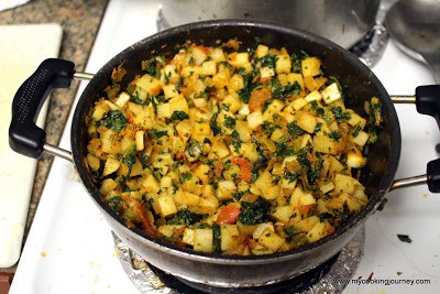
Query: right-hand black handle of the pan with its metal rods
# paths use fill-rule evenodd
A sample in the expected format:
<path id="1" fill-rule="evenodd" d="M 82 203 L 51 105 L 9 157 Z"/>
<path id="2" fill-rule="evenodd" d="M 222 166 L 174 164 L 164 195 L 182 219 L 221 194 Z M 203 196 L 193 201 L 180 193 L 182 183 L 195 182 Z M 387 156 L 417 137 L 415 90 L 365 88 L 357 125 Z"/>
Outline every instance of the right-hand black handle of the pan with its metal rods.
<path id="1" fill-rule="evenodd" d="M 414 98 L 414 99 L 413 99 Z M 440 85 L 419 86 L 415 97 L 392 97 L 394 102 L 415 102 L 419 113 L 431 116 L 440 128 Z M 427 165 L 427 174 L 397 179 L 392 189 L 419 184 L 428 184 L 431 193 L 440 193 L 440 159 L 430 161 Z"/>

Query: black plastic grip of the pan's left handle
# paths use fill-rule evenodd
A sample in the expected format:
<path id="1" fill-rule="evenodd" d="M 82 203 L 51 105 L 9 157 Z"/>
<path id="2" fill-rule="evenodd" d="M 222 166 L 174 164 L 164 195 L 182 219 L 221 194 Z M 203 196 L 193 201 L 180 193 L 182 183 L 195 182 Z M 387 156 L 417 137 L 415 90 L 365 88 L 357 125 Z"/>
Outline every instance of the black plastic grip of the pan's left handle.
<path id="1" fill-rule="evenodd" d="M 20 86 L 12 101 L 9 145 L 15 152 L 40 159 L 46 132 L 36 126 L 40 110 L 55 88 L 70 87 L 75 73 L 73 62 L 48 58 Z"/>

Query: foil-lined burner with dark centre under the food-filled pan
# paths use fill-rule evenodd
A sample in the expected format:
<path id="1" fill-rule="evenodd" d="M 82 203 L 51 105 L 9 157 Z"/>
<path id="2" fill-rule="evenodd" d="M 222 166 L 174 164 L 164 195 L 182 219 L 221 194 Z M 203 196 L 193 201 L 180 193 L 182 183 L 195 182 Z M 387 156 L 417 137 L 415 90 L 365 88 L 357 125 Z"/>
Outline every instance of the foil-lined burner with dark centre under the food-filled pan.
<path id="1" fill-rule="evenodd" d="M 118 259 L 129 279 L 140 293 L 154 294 L 202 294 L 202 293 L 341 293 L 345 285 L 331 284 L 334 279 L 351 279 L 361 262 L 365 243 L 362 229 L 339 254 L 320 266 L 297 277 L 261 287 L 223 288 L 207 286 L 167 274 L 147 263 L 113 235 Z"/>

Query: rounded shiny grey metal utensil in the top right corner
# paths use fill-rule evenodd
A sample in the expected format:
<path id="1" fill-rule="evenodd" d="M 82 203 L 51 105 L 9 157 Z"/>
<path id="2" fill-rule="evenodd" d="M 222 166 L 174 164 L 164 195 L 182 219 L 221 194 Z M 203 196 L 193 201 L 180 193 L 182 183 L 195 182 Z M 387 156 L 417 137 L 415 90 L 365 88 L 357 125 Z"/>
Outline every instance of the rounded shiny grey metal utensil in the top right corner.
<path id="1" fill-rule="evenodd" d="M 399 47 L 425 62 L 440 83 L 440 1 L 400 0 L 388 10 L 385 25 Z"/>

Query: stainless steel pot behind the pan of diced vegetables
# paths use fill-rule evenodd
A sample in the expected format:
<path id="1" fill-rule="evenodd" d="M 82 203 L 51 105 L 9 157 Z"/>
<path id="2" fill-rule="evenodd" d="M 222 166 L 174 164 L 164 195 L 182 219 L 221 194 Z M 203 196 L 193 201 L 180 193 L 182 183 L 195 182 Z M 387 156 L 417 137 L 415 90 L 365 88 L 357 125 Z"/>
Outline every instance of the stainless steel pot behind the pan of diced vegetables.
<path id="1" fill-rule="evenodd" d="M 162 0 L 169 26 L 215 19 L 273 21 L 349 48 L 373 26 L 380 0 Z"/>

